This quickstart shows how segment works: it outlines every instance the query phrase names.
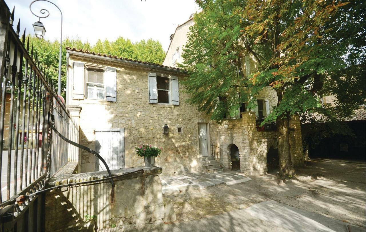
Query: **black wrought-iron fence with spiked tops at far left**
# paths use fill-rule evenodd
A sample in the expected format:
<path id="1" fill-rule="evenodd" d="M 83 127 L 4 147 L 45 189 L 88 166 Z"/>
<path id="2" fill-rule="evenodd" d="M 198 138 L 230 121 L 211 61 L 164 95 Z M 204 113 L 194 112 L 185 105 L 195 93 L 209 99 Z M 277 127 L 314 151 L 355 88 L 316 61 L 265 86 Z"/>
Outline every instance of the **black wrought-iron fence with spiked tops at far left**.
<path id="1" fill-rule="evenodd" d="M 40 64 L 40 54 L 29 45 L 29 39 L 26 41 L 25 30 L 19 38 L 20 19 L 16 31 L 13 29 L 14 13 L 1 0 L 1 219 L 12 219 L 9 228 L 19 230 L 28 228 L 26 222 L 32 220 L 30 207 L 36 212 L 33 219 L 40 220 L 42 196 L 30 197 L 22 204 L 14 199 L 42 190 L 47 179 L 68 162 L 68 143 L 51 129 L 51 123 L 65 138 L 69 138 L 73 123 L 55 94 L 56 83 Z M 22 220 L 17 227 L 15 219 L 19 217 Z M 37 221 L 32 222 L 32 226 L 36 224 L 33 229 L 41 231 Z M 5 231 L 3 223 L 1 230 Z"/>

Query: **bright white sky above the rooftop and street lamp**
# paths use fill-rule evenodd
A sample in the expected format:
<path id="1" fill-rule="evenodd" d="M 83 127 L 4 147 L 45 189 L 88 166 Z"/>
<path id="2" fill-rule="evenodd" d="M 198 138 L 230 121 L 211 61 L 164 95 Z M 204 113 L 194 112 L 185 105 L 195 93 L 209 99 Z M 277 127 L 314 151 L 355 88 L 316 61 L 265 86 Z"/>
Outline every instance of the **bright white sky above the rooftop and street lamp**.
<path id="1" fill-rule="evenodd" d="M 175 28 L 186 22 L 199 10 L 194 0 L 51 0 L 62 11 L 62 37 L 79 38 L 94 45 L 98 39 L 110 42 L 122 36 L 136 42 L 142 39 L 160 41 L 164 51 L 169 47 L 169 36 Z M 5 0 L 10 11 L 15 6 L 14 28 L 20 17 L 20 31 L 34 34 L 32 24 L 38 21 L 29 9 L 31 0 Z M 46 29 L 45 39 L 59 40 L 61 15 L 51 3 L 37 1 L 32 11 L 42 15 L 40 9 L 49 11 L 41 18 Z M 45 15 L 45 14 L 44 14 Z M 43 15 L 43 16 L 44 16 Z"/>

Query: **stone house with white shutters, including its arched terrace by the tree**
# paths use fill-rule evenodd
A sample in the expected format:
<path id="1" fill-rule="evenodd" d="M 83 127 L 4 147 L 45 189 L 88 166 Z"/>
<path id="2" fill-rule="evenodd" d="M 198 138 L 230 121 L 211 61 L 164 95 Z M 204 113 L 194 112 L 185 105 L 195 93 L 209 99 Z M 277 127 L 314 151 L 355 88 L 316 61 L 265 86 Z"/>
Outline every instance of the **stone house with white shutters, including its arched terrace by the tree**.
<path id="1" fill-rule="evenodd" d="M 255 115 L 269 113 L 276 103 L 269 89 L 258 97 L 262 107 L 255 112 L 244 108 L 241 117 L 218 125 L 186 103 L 180 81 L 187 73 L 179 68 L 66 50 L 66 105 L 80 128 L 75 142 L 95 149 L 111 169 L 143 166 L 135 147 L 152 144 L 163 147 L 156 165 L 165 175 L 231 169 L 233 162 L 246 174 L 265 173 L 266 154 L 271 146 L 276 148 L 276 135 L 261 131 Z M 163 134 L 165 124 L 169 134 Z M 292 119 L 291 154 L 296 164 L 303 162 L 299 125 L 298 118 Z M 79 172 L 103 169 L 88 152 L 78 151 L 77 159 Z"/>

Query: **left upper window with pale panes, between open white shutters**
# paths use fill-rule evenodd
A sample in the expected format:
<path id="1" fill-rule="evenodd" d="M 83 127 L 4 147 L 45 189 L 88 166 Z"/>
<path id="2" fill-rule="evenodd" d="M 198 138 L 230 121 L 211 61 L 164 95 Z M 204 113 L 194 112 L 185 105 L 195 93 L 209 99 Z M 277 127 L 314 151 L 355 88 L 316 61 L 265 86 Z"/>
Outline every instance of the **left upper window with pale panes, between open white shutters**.
<path id="1" fill-rule="evenodd" d="M 86 70 L 86 86 L 87 98 L 104 100 L 104 70 L 88 68 Z"/>

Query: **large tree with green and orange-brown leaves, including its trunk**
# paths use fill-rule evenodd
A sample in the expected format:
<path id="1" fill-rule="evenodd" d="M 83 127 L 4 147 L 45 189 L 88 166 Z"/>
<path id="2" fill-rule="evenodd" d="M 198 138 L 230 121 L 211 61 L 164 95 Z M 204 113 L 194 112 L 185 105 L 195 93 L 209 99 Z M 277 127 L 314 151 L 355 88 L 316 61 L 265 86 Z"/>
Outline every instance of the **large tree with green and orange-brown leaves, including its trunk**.
<path id="1" fill-rule="evenodd" d="M 340 119 L 365 98 L 365 2 L 206 0 L 194 15 L 182 57 L 190 78 L 189 103 L 221 120 L 239 104 L 254 107 L 264 88 L 276 91 L 277 106 L 266 117 L 276 121 L 280 174 L 294 168 L 288 141 L 291 115 L 318 111 Z M 245 78 L 243 58 L 256 71 Z M 226 97 L 217 103 L 217 96 Z M 334 95 L 336 107 L 320 97 Z"/>

